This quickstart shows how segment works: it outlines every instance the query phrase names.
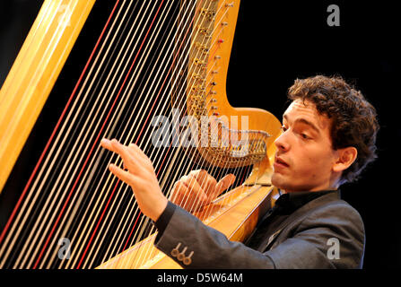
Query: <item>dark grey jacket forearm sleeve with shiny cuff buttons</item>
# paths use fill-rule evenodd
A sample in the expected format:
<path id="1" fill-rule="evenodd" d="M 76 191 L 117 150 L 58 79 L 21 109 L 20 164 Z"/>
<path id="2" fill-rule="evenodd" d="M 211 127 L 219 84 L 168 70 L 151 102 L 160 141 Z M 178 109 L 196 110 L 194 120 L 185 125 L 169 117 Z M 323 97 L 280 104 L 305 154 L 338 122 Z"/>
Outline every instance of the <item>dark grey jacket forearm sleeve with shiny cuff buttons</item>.
<path id="1" fill-rule="evenodd" d="M 268 256 L 227 239 L 178 205 L 169 202 L 160 218 L 154 245 L 184 268 L 275 268 Z"/>

